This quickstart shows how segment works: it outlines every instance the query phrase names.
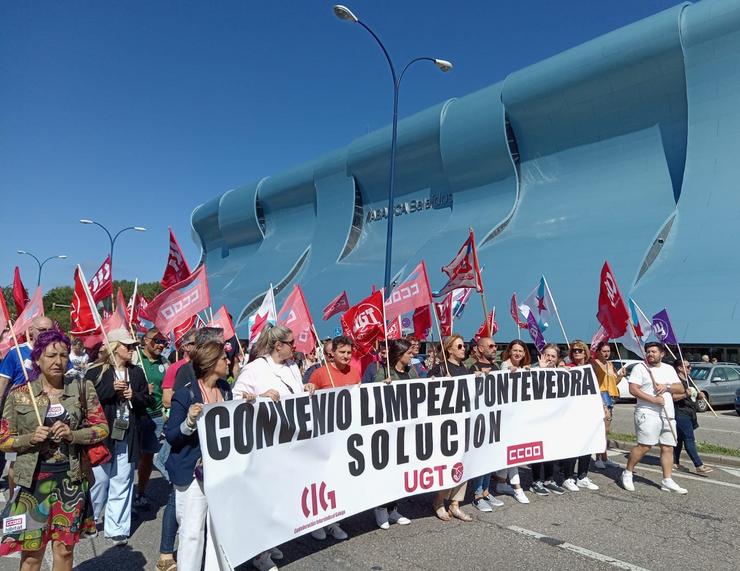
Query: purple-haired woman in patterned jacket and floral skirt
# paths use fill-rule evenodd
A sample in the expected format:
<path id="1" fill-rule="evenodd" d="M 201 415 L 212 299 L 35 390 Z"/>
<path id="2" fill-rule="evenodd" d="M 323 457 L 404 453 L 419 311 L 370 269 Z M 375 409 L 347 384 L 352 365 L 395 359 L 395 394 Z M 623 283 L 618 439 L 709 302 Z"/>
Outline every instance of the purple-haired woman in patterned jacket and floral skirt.
<path id="1" fill-rule="evenodd" d="M 72 569 L 80 536 L 97 533 L 83 454 L 85 445 L 108 436 L 108 424 L 89 381 L 65 382 L 69 350 L 59 331 L 39 334 L 30 381 L 8 395 L 3 409 L 0 451 L 18 454 L 19 488 L 2 517 L 6 525 L 22 524 L 6 528 L 0 555 L 21 551 L 21 569 L 41 569 L 50 541 L 54 569 Z"/>

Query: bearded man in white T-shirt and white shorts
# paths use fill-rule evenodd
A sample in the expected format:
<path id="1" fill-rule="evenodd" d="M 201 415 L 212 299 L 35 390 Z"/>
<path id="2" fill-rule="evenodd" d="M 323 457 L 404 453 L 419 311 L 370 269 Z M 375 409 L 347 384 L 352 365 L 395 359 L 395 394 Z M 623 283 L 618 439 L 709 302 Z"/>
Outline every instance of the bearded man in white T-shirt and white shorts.
<path id="1" fill-rule="evenodd" d="M 635 491 L 632 471 L 643 456 L 660 444 L 660 465 L 663 469 L 661 490 L 677 494 L 688 493 L 671 477 L 673 447 L 676 445 L 676 420 L 673 397 L 685 393 L 683 384 L 670 365 L 662 363 L 665 348 L 661 343 L 645 344 L 645 363 L 635 365 L 629 377 L 630 394 L 637 399 L 635 406 L 635 436 L 637 445 L 630 451 L 627 468 L 622 472 L 622 486 Z"/>

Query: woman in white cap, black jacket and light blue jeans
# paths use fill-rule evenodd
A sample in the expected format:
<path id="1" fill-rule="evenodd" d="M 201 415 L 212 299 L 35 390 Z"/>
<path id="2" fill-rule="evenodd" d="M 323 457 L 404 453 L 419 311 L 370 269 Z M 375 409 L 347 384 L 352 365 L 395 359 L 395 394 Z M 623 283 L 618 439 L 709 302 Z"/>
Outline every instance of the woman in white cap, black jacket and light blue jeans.
<path id="1" fill-rule="evenodd" d="M 125 545 L 131 535 L 134 471 L 141 456 L 141 424 L 153 406 L 144 372 L 132 364 L 138 345 L 125 329 L 108 333 L 111 361 L 90 367 L 85 378 L 92 381 L 108 421 L 106 445 L 112 459 L 93 468 L 95 484 L 90 493 L 95 520 L 105 508 L 104 532 L 115 545 Z"/>

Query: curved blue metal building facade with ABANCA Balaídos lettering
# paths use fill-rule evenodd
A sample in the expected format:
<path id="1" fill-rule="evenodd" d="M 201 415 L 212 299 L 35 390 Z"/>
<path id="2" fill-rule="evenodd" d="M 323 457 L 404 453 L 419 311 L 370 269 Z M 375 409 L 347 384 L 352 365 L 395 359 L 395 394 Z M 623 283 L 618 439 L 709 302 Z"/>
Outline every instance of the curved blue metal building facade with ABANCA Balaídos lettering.
<path id="1" fill-rule="evenodd" d="M 393 275 L 432 287 L 475 230 L 499 337 L 544 274 L 569 337 L 597 327 L 599 270 L 687 343 L 737 343 L 740 1 L 682 4 L 399 123 Z M 390 127 L 198 206 L 214 306 L 244 332 L 269 283 L 316 319 L 383 279 Z M 475 305 L 455 329 L 482 321 Z M 318 323 L 320 332 L 329 327 Z M 556 327 L 548 341 L 563 341 Z"/>

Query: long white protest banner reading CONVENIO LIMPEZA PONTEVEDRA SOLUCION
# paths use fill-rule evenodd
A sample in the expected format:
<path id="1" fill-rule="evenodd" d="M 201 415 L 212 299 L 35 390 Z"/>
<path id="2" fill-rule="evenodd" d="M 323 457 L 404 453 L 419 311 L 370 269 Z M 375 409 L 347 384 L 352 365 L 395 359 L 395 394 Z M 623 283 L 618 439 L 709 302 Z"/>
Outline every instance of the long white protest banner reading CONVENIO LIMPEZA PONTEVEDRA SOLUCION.
<path id="1" fill-rule="evenodd" d="M 405 496 L 605 442 L 590 365 L 207 405 L 198 434 L 217 551 L 232 567 Z"/>

